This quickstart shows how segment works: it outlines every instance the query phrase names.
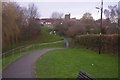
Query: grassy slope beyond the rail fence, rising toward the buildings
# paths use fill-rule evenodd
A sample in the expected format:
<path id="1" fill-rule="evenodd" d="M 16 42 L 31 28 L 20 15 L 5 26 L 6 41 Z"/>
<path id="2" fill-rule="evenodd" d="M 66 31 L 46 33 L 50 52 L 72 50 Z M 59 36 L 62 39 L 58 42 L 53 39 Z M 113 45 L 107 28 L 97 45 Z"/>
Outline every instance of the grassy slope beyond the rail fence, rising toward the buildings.
<path id="1" fill-rule="evenodd" d="M 35 38 L 35 39 L 29 39 L 29 40 L 24 40 L 21 42 L 17 42 L 16 44 L 13 44 L 12 46 L 8 46 L 7 48 L 2 48 L 2 51 L 8 51 L 13 48 L 19 47 L 19 46 L 28 46 L 30 44 L 40 44 L 40 43 L 48 43 L 48 42 L 54 42 L 54 41 L 59 41 L 62 38 L 59 35 L 49 35 L 49 32 L 52 30 L 52 28 L 49 27 L 43 27 L 41 28 L 41 34 Z"/>

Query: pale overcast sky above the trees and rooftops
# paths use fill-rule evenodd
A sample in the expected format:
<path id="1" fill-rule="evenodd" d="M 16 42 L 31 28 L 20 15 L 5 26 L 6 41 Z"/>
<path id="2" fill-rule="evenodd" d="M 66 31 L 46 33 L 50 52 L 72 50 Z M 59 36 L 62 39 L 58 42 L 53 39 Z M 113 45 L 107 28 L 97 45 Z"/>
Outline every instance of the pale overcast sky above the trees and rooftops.
<path id="1" fill-rule="evenodd" d="M 40 14 L 40 18 L 49 18 L 53 12 L 65 14 L 70 13 L 71 18 L 80 19 L 85 12 L 90 12 L 94 19 L 100 18 L 100 11 L 95 8 L 100 7 L 101 0 L 9 0 L 15 1 L 22 7 L 28 7 L 29 3 L 35 3 Z M 120 0 L 103 0 L 104 9 L 108 5 L 117 5 Z M 103 15 L 103 18 L 105 16 Z"/>

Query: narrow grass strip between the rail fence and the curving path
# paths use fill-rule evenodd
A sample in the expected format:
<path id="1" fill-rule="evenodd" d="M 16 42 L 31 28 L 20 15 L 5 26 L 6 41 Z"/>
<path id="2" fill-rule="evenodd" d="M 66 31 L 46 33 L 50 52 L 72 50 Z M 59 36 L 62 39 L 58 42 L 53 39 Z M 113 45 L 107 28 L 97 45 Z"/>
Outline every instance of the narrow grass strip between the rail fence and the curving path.
<path id="1" fill-rule="evenodd" d="M 17 52 L 14 54 L 10 54 L 8 56 L 2 57 L 2 60 L 0 58 L 0 61 L 2 62 L 2 68 L 5 69 L 9 64 L 17 60 L 18 58 L 25 56 L 26 54 L 30 54 L 35 50 L 40 50 L 43 48 L 57 48 L 57 47 L 63 47 L 63 42 L 54 43 L 54 44 L 45 44 L 45 45 L 34 45 L 30 49 L 23 51 L 23 52 Z"/>

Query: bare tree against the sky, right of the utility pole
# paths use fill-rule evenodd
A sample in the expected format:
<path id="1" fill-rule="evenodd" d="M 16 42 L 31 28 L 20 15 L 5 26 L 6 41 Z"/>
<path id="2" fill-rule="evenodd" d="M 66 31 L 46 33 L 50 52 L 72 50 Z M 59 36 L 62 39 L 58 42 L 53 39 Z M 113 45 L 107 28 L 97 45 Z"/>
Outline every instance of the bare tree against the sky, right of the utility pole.
<path id="1" fill-rule="evenodd" d="M 109 27 L 106 28 L 107 33 L 113 34 L 118 33 L 119 27 L 117 25 L 118 23 L 118 15 L 119 15 L 119 9 L 117 5 L 109 5 L 107 9 L 104 10 L 104 15 L 107 19 L 110 20 Z M 119 24 L 119 23 L 118 23 Z"/>

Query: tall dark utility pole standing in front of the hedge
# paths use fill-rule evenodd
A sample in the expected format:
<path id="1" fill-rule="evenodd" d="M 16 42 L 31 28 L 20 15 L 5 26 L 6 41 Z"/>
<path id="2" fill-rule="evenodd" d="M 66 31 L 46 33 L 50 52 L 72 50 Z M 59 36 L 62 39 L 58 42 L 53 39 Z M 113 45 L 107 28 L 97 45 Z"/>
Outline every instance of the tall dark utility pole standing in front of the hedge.
<path id="1" fill-rule="evenodd" d="M 101 38 L 101 34 L 103 34 L 103 26 L 102 26 L 102 13 L 103 13 L 103 0 L 101 0 L 101 19 L 100 19 L 100 43 L 99 43 L 99 54 L 101 54 L 101 48 L 102 48 L 102 38 Z"/>

